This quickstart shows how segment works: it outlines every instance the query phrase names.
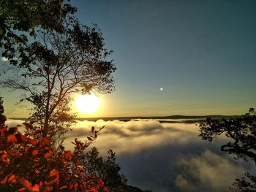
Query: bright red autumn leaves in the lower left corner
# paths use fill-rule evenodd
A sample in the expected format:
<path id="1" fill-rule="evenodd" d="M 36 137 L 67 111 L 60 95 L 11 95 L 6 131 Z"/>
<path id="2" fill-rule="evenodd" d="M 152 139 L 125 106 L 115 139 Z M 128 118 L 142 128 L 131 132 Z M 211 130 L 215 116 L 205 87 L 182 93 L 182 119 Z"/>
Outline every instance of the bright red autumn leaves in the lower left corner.
<path id="1" fill-rule="evenodd" d="M 26 125 L 30 128 L 30 125 Z M 0 128 L 0 191 L 85 191 L 108 192 L 102 180 L 86 175 L 86 168 L 80 166 L 80 158 L 97 138 L 97 132 L 89 141 L 75 139 L 73 153 L 54 151 L 50 138 L 33 139 L 37 133 L 23 135 L 18 128 Z"/>

